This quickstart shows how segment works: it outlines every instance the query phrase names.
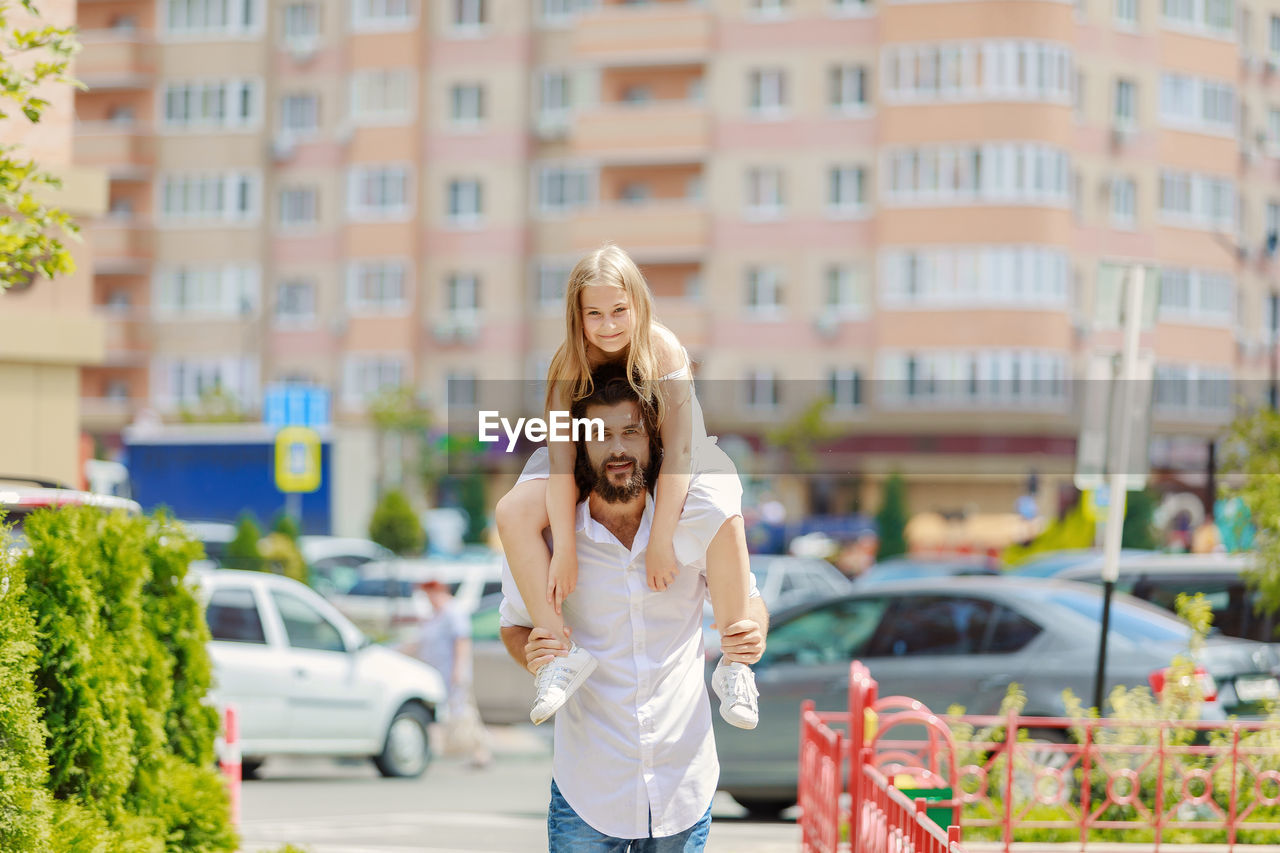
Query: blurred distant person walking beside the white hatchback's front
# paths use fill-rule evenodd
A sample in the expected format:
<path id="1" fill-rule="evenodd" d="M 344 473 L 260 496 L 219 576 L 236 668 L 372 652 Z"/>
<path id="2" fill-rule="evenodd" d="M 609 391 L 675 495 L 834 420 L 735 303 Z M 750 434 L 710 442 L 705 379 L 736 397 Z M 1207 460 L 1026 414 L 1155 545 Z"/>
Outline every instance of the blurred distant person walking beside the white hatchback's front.
<path id="1" fill-rule="evenodd" d="M 493 756 L 471 695 L 471 616 L 439 580 L 428 580 L 420 589 L 431 603 L 431 613 L 419 625 L 411 653 L 435 667 L 448 690 L 448 716 L 440 729 L 443 751 L 470 756 L 471 766 L 485 767 Z"/>

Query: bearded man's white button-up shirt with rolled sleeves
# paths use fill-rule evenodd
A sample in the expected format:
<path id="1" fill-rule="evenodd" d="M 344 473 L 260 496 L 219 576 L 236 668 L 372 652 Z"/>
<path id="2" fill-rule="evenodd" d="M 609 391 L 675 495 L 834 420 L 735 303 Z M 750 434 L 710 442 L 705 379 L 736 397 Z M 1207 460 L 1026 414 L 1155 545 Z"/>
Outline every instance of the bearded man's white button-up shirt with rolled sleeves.
<path id="1" fill-rule="evenodd" d="M 631 548 L 577 507 L 577 588 L 564 601 L 573 642 L 599 666 L 556 715 L 552 771 L 568 804 L 593 829 L 614 838 L 654 838 L 696 824 L 719 780 L 710 702 L 703 681 L 703 603 L 707 548 L 721 524 L 712 516 L 689 529 L 704 543 L 680 562 L 675 583 L 652 592 L 644 552 L 653 498 Z M 677 553 L 689 552 L 680 548 Z M 511 569 L 503 566 L 503 625 L 532 626 Z M 758 596 L 755 580 L 751 594 Z"/>

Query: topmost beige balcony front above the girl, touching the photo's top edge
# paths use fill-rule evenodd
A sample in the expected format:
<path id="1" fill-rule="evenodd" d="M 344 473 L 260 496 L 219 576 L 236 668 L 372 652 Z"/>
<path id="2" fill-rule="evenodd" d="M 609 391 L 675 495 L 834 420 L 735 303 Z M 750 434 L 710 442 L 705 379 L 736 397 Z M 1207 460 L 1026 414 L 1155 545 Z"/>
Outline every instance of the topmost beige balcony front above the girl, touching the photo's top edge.
<path id="1" fill-rule="evenodd" d="M 604 65 L 705 60 L 712 37 L 712 13 L 703 3 L 600 6 L 573 26 L 577 55 Z"/>

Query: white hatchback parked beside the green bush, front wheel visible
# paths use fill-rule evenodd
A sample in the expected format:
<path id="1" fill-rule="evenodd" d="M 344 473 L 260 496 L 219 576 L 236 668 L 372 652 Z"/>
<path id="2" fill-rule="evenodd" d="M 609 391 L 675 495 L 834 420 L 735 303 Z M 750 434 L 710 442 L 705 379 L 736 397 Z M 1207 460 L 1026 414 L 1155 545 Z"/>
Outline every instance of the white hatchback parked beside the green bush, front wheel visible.
<path id="1" fill-rule="evenodd" d="M 324 598 L 259 571 L 200 571 L 212 635 L 212 701 L 239 712 L 246 772 L 268 756 L 367 756 L 384 776 L 420 776 L 444 707 L 430 666 L 372 644 Z"/>

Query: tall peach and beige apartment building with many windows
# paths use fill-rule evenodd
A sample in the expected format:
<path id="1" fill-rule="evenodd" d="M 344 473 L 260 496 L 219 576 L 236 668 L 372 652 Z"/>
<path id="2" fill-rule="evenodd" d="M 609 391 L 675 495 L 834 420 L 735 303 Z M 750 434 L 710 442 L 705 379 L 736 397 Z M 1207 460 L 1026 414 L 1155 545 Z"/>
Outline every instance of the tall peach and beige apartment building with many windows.
<path id="1" fill-rule="evenodd" d="M 81 0 L 108 361 L 86 428 L 265 386 L 339 421 L 538 378 L 584 251 L 644 268 L 744 474 L 829 394 L 842 510 L 1070 480 L 1115 268 L 1160 272 L 1152 456 L 1275 377 L 1280 3 Z M 452 382 L 449 382 L 452 380 Z M 1233 384 L 1235 383 L 1235 384 Z M 1185 470 L 1184 470 L 1185 469 Z M 874 501 L 867 501 L 873 506 Z"/>

